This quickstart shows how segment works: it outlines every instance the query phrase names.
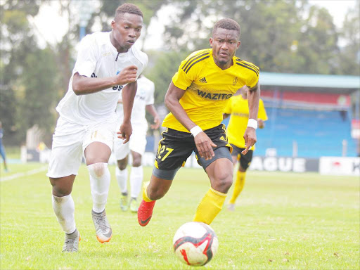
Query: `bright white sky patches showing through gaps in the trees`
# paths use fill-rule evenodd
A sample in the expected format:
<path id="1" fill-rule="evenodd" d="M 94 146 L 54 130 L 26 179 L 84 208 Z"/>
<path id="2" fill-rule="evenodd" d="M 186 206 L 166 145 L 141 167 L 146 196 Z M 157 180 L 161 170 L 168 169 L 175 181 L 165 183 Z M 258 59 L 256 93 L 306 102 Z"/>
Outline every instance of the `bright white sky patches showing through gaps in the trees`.
<path id="1" fill-rule="evenodd" d="M 95 6 L 98 5 L 96 0 L 86 1 L 93 1 Z M 349 8 L 354 8 L 356 4 L 359 4 L 359 1 L 360 0 L 309 0 L 309 3 L 327 8 L 329 13 L 333 15 L 335 25 L 340 28 Z M 59 6 L 57 1 L 52 1 L 49 5 L 44 4 L 41 6 L 39 14 L 32 21 L 41 46 L 46 46 L 46 42 L 56 44 L 63 38 L 64 34 L 68 32 L 68 18 L 61 17 L 58 10 Z M 169 20 L 169 16 L 172 13 L 169 12 L 169 10 L 171 10 L 171 7 L 162 8 L 158 13 L 158 19 L 151 21 L 148 27 L 148 37 L 144 46 L 145 50 L 160 49 L 162 47 L 162 31 L 164 30 L 162 22 Z M 98 29 L 98 31 L 99 30 L 100 29 Z M 141 43 L 139 44 L 141 45 Z"/>

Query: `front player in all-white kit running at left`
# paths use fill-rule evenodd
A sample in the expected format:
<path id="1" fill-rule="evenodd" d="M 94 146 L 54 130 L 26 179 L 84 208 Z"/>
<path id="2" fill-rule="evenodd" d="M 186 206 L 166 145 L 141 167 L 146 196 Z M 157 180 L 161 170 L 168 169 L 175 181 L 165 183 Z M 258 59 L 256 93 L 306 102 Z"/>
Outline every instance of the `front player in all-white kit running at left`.
<path id="1" fill-rule="evenodd" d="M 124 120 L 119 133 L 126 143 L 132 133 L 130 117 L 136 79 L 148 63 L 148 56 L 133 46 L 142 25 L 141 10 L 123 4 L 115 12 L 111 32 L 84 37 L 68 92 L 56 108 L 60 117 L 53 134 L 47 176 L 53 186 L 53 210 L 65 231 L 63 252 L 77 252 L 79 248 L 71 191 L 83 155 L 90 176 L 96 238 L 104 243 L 113 236 L 105 203 L 110 186 L 108 160 L 118 127 L 115 108 L 122 90 Z"/>

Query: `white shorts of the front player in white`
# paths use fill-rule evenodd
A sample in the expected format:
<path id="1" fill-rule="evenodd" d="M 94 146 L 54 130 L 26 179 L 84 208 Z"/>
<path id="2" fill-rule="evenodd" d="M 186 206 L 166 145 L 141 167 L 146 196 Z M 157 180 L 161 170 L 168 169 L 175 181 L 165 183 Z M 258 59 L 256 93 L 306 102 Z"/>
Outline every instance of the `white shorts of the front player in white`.
<path id="1" fill-rule="evenodd" d="M 53 147 L 46 176 L 59 178 L 77 175 L 84 150 L 90 143 L 98 141 L 113 148 L 116 120 L 96 122 L 83 126 L 60 117 L 53 134 Z"/>

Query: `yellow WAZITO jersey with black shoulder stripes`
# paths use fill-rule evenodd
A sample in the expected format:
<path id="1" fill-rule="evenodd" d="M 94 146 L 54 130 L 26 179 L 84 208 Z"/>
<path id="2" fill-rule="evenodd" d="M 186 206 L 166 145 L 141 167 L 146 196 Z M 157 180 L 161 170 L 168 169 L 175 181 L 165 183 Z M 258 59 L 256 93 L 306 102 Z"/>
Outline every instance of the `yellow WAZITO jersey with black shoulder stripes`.
<path id="1" fill-rule="evenodd" d="M 259 68 L 237 57 L 233 57 L 230 68 L 221 70 L 214 63 L 212 49 L 191 53 L 172 77 L 174 85 L 185 91 L 180 99 L 181 106 L 203 130 L 221 123 L 226 101 L 238 89 L 244 85 L 253 87 L 258 81 Z M 165 117 L 162 126 L 188 132 L 172 113 Z"/>

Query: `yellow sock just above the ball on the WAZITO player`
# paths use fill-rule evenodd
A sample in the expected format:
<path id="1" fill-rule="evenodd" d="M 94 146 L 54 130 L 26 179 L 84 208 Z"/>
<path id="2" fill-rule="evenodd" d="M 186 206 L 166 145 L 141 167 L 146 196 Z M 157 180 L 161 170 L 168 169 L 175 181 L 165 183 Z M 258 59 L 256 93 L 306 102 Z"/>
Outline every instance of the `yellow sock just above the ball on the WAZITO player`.
<path id="1" fill-rule="evenodd" d="M 210 188 L 198 205 L 193 221 L 210 224 L 224 205 L 226 194 Z"/>

